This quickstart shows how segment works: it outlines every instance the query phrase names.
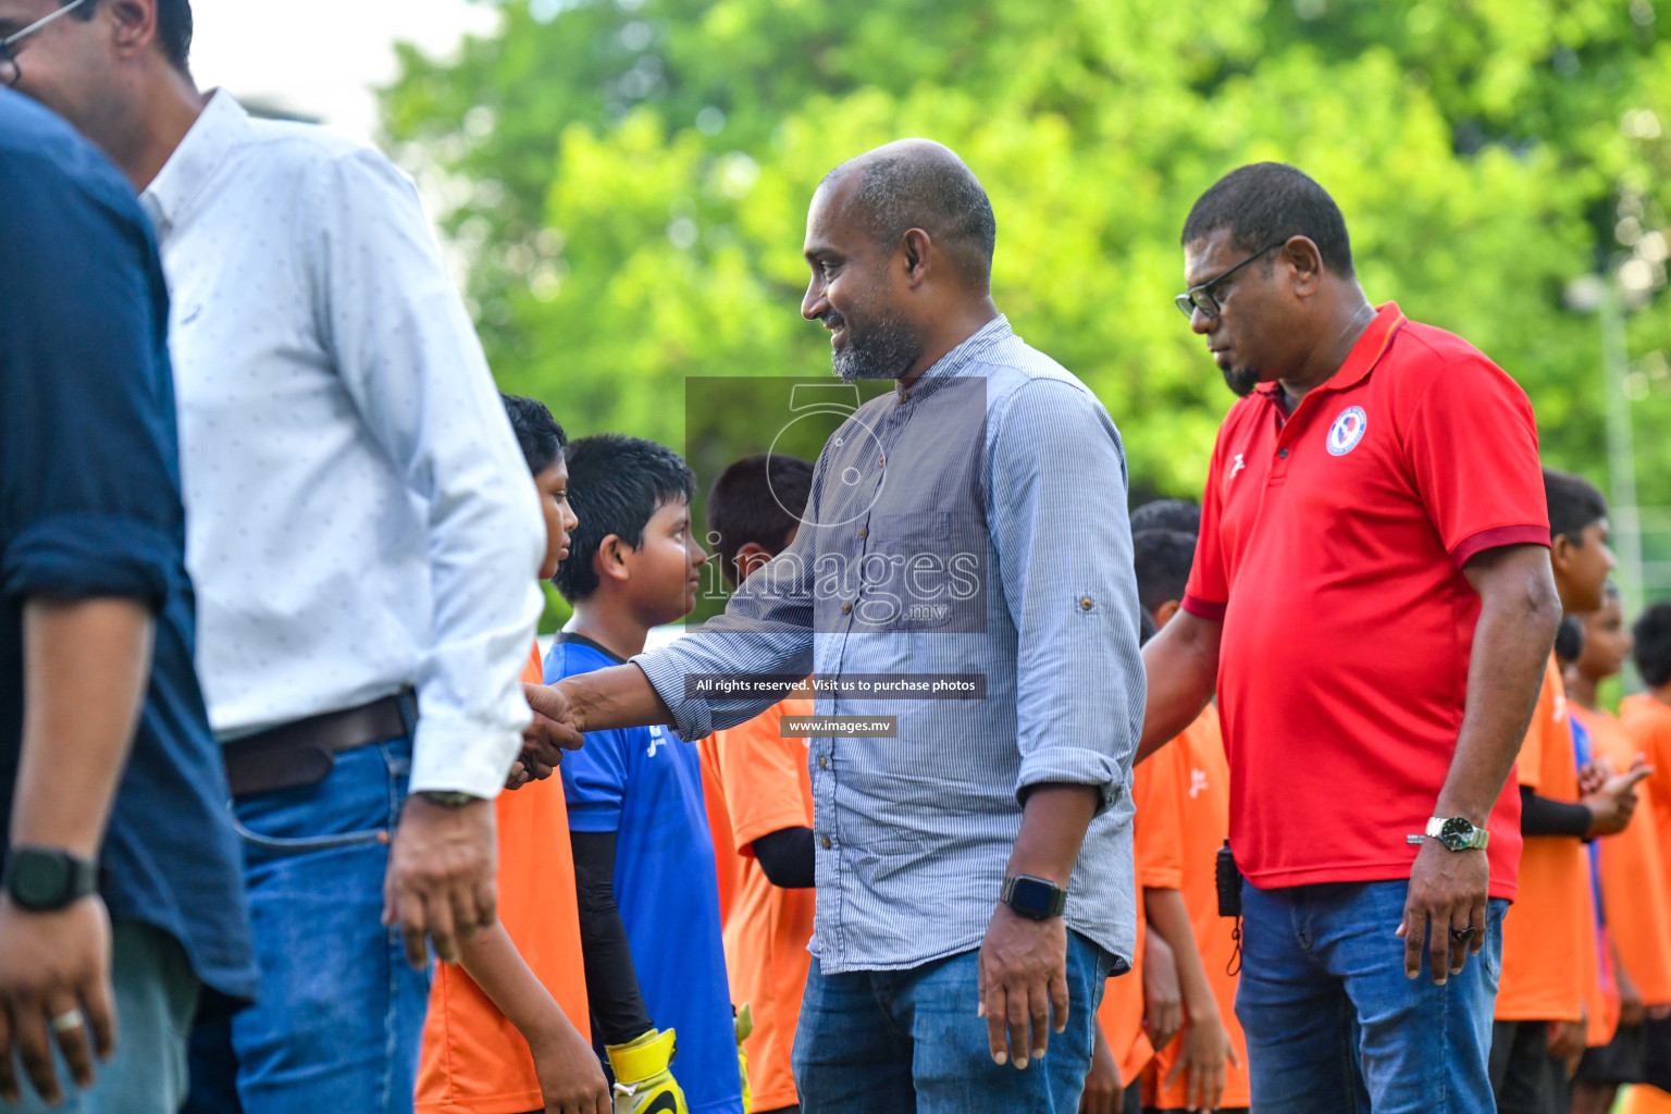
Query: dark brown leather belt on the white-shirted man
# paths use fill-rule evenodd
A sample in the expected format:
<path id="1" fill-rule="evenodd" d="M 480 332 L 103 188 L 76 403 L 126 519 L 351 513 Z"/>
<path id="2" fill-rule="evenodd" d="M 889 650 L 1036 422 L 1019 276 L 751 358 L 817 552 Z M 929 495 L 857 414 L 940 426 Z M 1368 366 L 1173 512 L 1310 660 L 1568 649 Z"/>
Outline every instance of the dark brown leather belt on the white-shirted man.
<path id="1" fill-rule="evenodd" d="M 418 723 L 418 701 L 403 690 L 358 708 L 326 711 L 222 743 L 234 797 L 317 785 L 344 750 L 398 738 Z"/>

